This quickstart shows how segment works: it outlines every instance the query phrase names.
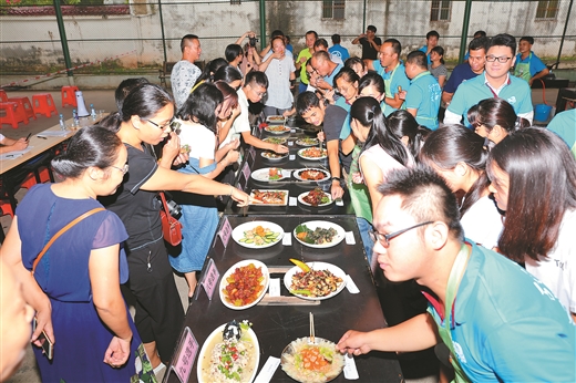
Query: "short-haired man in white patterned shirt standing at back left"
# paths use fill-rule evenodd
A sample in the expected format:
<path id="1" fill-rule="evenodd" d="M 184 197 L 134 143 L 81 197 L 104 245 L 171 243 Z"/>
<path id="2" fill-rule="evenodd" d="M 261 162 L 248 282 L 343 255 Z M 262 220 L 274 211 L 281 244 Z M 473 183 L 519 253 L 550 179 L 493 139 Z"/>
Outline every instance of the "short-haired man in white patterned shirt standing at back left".
<path id="1" fill-rule="evenodd" d="M 188 99 L 192 87 L 202 74 L 200 69 L 194 65 L 194 62 L 199 60 L 202 53 L 198 37 L 186 34 L 181 40 L 181 50 L 182 60 L 174 65 L 169 75 L 176 108 L 179 108 Z"/>

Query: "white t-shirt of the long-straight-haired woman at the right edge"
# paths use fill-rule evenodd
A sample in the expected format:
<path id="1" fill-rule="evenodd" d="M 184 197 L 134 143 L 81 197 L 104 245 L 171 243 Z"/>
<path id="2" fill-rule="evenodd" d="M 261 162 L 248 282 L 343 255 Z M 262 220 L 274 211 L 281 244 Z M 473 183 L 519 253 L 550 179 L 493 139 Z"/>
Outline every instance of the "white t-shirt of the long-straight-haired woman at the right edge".
<path id="1" fill-rule="evenodd" d="M 576 312 L 576 210 L 564 214 L 556 245 L 538 261 L 526 258 L 526 270 L 554 292 L 560 303 Z"/>

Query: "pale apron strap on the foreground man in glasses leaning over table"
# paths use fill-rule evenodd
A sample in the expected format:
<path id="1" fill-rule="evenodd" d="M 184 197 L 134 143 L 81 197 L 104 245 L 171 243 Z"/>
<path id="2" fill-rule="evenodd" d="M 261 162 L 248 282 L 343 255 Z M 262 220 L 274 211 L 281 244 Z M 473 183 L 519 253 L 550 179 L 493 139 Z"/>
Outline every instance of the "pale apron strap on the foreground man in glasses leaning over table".
<path id="1" fill-rule="evenodd" d="M 457 288 L 460 286 L 460 280 L 464 276 L 466 271 L 466 265 L 470 259 L 470 250 L 466 244 L 462 245 L 460 252 L 456 256 L 456 260 L 454 262 L 454 267 L 450 272 L 450 278 L 448 279 L 448 288 L 446 288 L 446 301 L 444 303 L 444 324 L 439 325 L 438 332 L 442 341 L 450 350 L 450 363 L 454 368 L 454 381 L 456 383 L 467 383 L 470 380 L 466 374 L 462 371 L 460 366 L 460 362 L 455 356 L 454 344 L 452 343 L 452 334 L 450 332 L 451 328 L 454 327 L 454 317 L 453 317 L 453 307 L 454 300 L 456 299 Z"/>

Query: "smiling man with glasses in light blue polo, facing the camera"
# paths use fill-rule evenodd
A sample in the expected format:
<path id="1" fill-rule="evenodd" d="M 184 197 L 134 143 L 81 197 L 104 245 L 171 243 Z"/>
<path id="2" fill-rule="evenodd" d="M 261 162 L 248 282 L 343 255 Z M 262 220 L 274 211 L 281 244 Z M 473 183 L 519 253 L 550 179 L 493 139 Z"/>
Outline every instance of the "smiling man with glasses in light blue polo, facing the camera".
<path id="1" fill-rule="evenodd" d="M 514 54 L 516 54 L 516 39 L 506 33 L 492 38 L 486 51 L 484 75 L 479 75 L 459 86 L 448 106 L 444 124 L 459 124 L 463 117 L 464 125 L 470 126 L 466 116 L 469 108 L 491 97 L 506 100 L 518 117 L 526 118 L 532 124 L 534 107 L 528 83 L 510 75 L 510 69 L 516 61 Z"/>

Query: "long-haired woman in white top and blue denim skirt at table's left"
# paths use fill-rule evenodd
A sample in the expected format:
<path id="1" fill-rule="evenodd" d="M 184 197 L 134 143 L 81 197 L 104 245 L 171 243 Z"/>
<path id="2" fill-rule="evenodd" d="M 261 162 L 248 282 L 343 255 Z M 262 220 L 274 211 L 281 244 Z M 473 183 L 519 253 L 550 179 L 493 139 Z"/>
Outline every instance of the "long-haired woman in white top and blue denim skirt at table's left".
<path id="1" fill-rule="evenodd" d="M 217 86 L 227 90 L 226 97 Z M 182 120 L 179 139 L 181 145 L 189 149 L 188 163 L 178 169 L 185 174 L 200 174 L 213 179 L 228 165 L 238 159 L 238 152 L 234 144 L 218 147 L 217 120 L 229 116 L 237 99 L 234 90 L 226 83 L 200 84 L 195 89 L 177 112 Z M 182 229 L 181 252 L 171 251 L 172 267 L 184 273 L 188 283 L 188 298 L 192 298 L 197 284 L 196 272 L 202 270 L 208 253 L 212 238 L 218 226 L 218 210 L 214 196 L 203 196 L 191 193 L 175 193 L 176 201 L 182 206 L 179 218 Z"/>

